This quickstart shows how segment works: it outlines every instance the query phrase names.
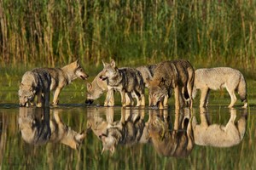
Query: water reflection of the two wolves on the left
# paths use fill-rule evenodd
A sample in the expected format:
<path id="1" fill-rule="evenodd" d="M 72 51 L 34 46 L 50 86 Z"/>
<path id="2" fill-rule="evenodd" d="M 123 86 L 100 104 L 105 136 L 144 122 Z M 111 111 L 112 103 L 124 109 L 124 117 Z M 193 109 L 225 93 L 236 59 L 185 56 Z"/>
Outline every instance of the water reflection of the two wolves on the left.
<path id="1" fill-rule="evenodd" d="M 28 144 L 46 144 L 48 142 L 66 144 L 78 149 L 86 133 L 77 133 L 61 121 L 58 111 L 49 117 L 49 107 L 20 107 L 19 127 L 22 139 Z"/>

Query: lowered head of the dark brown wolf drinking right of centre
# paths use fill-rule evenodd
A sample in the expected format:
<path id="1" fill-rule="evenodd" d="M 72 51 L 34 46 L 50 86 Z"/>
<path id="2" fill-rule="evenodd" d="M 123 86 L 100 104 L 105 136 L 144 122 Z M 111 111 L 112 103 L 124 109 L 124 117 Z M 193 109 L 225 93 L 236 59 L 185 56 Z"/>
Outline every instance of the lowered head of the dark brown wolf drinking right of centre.
<path id="1" fill-rule="evenodd" d="M 165 96 L 168 96 L 168 90 L 165 86 L 165 80 L 149 82 L 149 99 L 150 106 L 159 107 L 160 102 L 164 101 Z"/>

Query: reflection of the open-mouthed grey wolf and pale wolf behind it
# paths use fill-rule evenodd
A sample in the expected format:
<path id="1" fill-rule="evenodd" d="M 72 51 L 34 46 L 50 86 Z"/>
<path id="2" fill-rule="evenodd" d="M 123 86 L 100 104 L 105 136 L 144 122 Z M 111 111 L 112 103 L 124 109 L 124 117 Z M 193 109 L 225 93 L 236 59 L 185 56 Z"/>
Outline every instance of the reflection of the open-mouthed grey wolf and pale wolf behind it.
<path id="1" fill-rule="evenodd" d="M 137 110 L 138 111 L 138 110 Z M 90 119 L 87 127 L 90 127 L 97 138 L 102 141 L 103 149 L 112 154 L 118 144 L 132 145 L 137 143 L 148 143 L 148 127 L 144 122 L 144 112 L 137 112 L 122 108 L 121 119 L 113 121 L 113 107 L 108 108 L 107 121 L 96 118 Z"/>

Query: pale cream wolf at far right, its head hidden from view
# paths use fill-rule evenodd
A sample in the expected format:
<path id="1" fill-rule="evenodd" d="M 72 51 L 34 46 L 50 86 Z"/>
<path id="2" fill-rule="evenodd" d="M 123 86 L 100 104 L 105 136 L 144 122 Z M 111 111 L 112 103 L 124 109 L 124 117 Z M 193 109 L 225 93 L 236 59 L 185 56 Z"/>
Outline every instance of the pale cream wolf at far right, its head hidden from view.
<path id="1" fill-rule="evenodd" d="M 207 107 L 210 90 L 221 88 L 226 88 L 230 94 L 230 108 L 236 103 L 235 92 L 240 95 L 244 103 L 243 107 L 247 108 L 247 83 L 240 71 L 230 67 L 204 68 L 195 71 L 193 98 L 196 96 L 196 91 L 200 89 L 200 107 Z"/>

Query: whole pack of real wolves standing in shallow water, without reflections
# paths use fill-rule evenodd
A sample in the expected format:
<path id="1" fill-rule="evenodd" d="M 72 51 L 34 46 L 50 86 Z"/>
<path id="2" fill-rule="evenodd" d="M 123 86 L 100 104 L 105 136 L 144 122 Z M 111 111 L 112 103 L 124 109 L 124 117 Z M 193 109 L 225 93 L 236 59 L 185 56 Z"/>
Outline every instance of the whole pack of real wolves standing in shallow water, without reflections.
<path id="1" fill-rule="evenodd" d="M 164 109 L 174 94 L 175 109 L 193 107 L 197 91 L 201 91 L 200 107 L 207 107 L 210 90 L 226 88 L 230 94 L 229 108 L 236 104 L 239 94 L 242 107 L 247 108 L 247 82 L 241 71 L 230 67 L 201 68 L 195 70 L 185 59 L 167 60 L 154 65 L 137 68 L 119 67 L 112 59 L 102 61 L 103 69 L 94 80 L 87 82 L 87 99 L 90 105 L 106 94 L 104 106 L 114 106 L 114 94 L 120 94 L 120 103 L 125 106 L 145 106 L 145 88 L 148 88 L 148 106 Z M 79 59 L 61 68 L 35 68 L 26 71 L 20 82 L 20 106 L 37 107 L 58 105 L 61 90 L 77 78 L 86 80 Z M 53 100 L 50 103 L 50 92 Z M 36 100 L 36 101 L 35 101 Z M 35 101 L 35 103 L 34 103 Z"/>

